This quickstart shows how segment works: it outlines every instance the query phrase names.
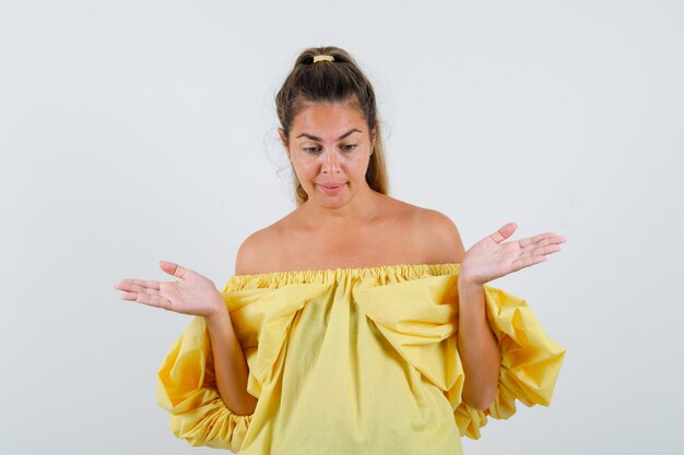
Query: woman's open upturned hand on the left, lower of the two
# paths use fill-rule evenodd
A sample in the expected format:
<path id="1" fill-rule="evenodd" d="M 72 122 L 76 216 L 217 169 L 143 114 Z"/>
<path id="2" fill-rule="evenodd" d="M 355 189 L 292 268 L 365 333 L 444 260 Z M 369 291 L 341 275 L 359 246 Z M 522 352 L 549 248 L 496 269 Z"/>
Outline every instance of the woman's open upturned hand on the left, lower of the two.
<path id="1" fill-rule="evenodd" d="M 226 309 L 221 292 L 211 279 L 173 262 L 161 261 L 160 267 L 178 279 L 122 279 L 115 286 L 123 291 L 121 299 L 205 318 Z"/>

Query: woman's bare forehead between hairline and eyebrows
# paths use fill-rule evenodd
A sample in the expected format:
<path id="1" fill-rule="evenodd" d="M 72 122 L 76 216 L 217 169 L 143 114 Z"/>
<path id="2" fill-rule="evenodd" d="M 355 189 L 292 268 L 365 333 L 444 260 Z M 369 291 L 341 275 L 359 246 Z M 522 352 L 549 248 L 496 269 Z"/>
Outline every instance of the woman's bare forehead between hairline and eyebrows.
<path id="1" fill-rule="evenodd" d="M 295 133 L 295 137 L 299 133 L 308 133 L 323 139 L 334 139 L 352 128 L 366 130 L 366 120 L 358 104 L 307 103 L 293 119 L 291 132 Z"/>

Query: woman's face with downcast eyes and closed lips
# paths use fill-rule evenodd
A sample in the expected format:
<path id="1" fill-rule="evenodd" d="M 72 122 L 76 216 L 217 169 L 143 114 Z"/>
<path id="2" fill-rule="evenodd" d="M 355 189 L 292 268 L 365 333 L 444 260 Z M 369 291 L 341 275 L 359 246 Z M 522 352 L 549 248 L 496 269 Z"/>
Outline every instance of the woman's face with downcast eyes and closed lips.
<path id="1" fill-rule="evenodd" d="M 346 205 L 359 191 L 368 191 L 366 169 L 376 129 L 368 125 L 354 103 L 316 103 L 294 118 L 286 140 L 281 139 L 299 183 L 327 208 Z"/>

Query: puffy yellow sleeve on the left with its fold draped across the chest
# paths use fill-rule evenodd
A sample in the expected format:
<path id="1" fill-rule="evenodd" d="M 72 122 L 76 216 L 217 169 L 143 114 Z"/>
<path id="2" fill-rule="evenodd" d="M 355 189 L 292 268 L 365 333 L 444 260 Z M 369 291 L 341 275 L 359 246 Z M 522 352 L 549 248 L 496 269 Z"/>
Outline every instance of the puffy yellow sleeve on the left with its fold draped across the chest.
<path id="1" fill-rule="evenodd" d="M 331 287 L 264 276 L 272 279 L 235 275 L 221 292 L 249 368 L 247 392 L 257 398 L 280 374 L 282 346 L 296 312 Z M 157 403 L 169 411 L 174 434 L 190 445 L 240 451 L 253 414 L 236 415 L 221 398 L 204 318 L 192 320 L 164 359 L 157 373 Z"/>

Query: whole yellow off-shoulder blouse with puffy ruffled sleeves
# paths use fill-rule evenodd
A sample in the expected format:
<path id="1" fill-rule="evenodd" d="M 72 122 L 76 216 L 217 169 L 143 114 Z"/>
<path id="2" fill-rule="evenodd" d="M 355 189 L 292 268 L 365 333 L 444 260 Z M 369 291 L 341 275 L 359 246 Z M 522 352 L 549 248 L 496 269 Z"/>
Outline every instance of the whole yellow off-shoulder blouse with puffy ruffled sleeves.
<path id="1" fill-rule="evenodd" d="M 460 264 L 234 275 L 222 295 L 249 366 L 250 416 L 216 391 L 196 318 L 158 372 L 170 427 L 192 445 L 252 454 L 461 454 L 487 416 L 549 405 L 565 349 L 522 299 L 485 286 L 502 351 L 495 402 L 461 403 Z"/>

